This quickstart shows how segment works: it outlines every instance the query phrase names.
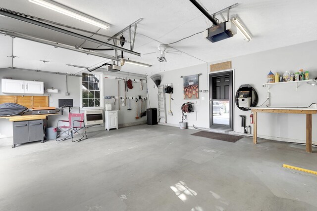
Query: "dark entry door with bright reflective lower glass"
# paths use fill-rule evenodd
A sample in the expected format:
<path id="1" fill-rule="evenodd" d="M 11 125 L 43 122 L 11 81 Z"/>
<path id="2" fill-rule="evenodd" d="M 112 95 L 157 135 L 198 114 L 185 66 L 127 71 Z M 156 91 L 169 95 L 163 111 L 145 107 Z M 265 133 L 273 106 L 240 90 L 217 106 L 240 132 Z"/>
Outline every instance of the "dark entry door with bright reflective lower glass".
<path id="1" fill-rule="evenodd" d="M 209 75 L 210 128 L 233 130 L 232 71 Z"/>

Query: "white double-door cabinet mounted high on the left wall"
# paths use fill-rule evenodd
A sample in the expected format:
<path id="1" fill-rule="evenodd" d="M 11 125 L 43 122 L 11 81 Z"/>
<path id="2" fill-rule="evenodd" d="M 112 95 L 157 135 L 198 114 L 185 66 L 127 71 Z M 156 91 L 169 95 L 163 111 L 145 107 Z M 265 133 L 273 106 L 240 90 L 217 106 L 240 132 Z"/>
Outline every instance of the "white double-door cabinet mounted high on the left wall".
<path id="1" fill-rule="evenodd" d="M 33 81 L 22 81 L 12 79 L 1 79 L 2 93 L 25 93 L 25 94 L 43 94 L 44 83 Z"/>

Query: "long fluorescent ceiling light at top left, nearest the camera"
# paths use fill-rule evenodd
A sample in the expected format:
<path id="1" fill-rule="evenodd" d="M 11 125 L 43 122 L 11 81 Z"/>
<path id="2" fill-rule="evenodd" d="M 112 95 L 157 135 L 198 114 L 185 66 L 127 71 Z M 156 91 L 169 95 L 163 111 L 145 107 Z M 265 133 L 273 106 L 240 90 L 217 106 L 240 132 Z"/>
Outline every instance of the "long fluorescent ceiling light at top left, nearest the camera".
<path id="1" fill-rule="evenodd" d="M 62 13 L 64 15 L 68 15 L 72 18 L 76 18 L 78 20 L 84 21 L 86 23 L 92 24 L 94 26 L 97 26 L 99 28 L 103 28 L 108 30 L 110 28 L 110 24 L 103 22 L 101 20 L 98 20 L 96 18 L 90 17 L 88 15 L 85 15 L 81 12 L 78 12 L 74 9 L 71 9 L 69 7 L 66 7 L 64 5 L 61 5 L 59 3 L 53 2 L 51 0 L 29 0 L 32 3 L 38 4 L 40 6 L 44 6 L 48 9 L 52 9 L 56 12 Z"/>

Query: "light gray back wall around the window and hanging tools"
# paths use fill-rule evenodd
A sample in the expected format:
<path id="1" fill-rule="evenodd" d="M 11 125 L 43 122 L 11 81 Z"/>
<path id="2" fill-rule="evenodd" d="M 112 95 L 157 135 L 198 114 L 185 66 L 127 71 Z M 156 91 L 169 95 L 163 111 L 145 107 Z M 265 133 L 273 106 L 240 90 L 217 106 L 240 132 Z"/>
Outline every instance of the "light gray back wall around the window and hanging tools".
<path id="1" fill-rule="evenodd" d="M 111 75 L 111 73 L 107 73 L 107 75 Z M 113 75 L 113 74 L 112 74 Z M 124 73 L 116 74 L 118 77 L 127 77 L 133 79 L 142 79 L 142 77 L 136 76 L 128 76 Z M 1 69 L 0 70 L 0 79 L 2 77 L 12 77 L 17 80 L 27 80 L 27 81 L 42 81 L 44 82 L 45 88 L 54 87 L 58 89 L 58 93 L 51 93 L 50 106 L 58 107 L 58 99 L 73 99 L 74 107 L 71 110 L 72 113 L 83 113 L 84 111 L 79 109 L 80 106 L 80 78 L 68 76 L 68 92 L 69 96 L 65 96 L 66 87 L 65 87 L 65 76 L 57 75 L 57 74 L 48 74 L 41 72 L 31 72 L 31 71 L 22 71 L 22 70 L 13 70 L 13 69 Z M 124 96 L 124 83 L 120 81 L 120 95 Z M 146 88 L 147 84 L 143 83 L 143 90 L 140 88 L 140 83 L 133 84 L 133 89 L 129 89 L 127 92 L 127 96 L 135 96 L 142 95 L 146 97 Z M 117 96 L 118 95 L 118 83 L 113 79 L 105 79 L 104 80 L 104 95 L 106 96 Z M 1 80 L 0 80 L 0 95 L 14 95 L 14 94 L 6 94 L 1 92 Z M 17 94 L 19 95 L 19 94 Z M 132 110 L 128 111 L 128 106 L 120 107 L 120 111 L 118 112 L 118 124 L 119 127 L 123 125 L 134 125 L 134 124 L 143 124 L 146 122 L 146 118 L 135 119 L 136 110 L 135 110 L 135 101 L 131 101 Z M 118 109 L 118 104 L 116 101 L 116 109 Z M 112 108 L 114 110 L 114 108 Z M 55 127 L 58 120 L 67 120 L 68 119 L 68 109 L 66 108 L 63 112 L 63 116 L 56 115 L 50 116 L 48 118 L 48 126 Z M 105 127 L 100 127 L 99 129 L 104 129 Z M 92 128 L 91 128 L 92 129 Z M 98 129 L 98 128 L 96 128 Z M 11 137 L 13 136 L 12 131 L 12 123 L 7 119 L 0 119 L 0 138 Z"/>

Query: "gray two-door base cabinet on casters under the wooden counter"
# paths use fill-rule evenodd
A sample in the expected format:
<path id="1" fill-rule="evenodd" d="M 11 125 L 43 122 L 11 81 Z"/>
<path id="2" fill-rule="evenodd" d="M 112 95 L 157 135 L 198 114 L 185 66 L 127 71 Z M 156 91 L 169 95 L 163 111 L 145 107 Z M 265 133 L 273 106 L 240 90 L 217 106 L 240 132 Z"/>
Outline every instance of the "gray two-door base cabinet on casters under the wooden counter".
<path id="1" fill-rule="evenodd" d="M 44 121 L 13 122 L 13 145 L 44 140 Z"/>

